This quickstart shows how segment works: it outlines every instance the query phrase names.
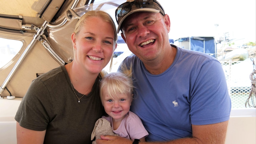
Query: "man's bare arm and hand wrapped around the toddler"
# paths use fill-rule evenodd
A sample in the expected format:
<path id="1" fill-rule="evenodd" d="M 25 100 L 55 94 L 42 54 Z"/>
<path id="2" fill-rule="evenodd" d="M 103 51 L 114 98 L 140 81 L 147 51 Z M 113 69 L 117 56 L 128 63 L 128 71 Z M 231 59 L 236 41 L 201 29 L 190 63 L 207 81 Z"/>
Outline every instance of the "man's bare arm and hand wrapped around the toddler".
<path id="1" fill-rule="evenodd" d="M 224 144 L 227 133 L 228 121 L 217 124 L 207 125 L 192 125 L 192 137 L 180 138 L 168 142 L 140 142 L 139 144 Z M 122 137 L 101 136 L 102 140 L 98 139 L 97 144 L 132 144 L 131 140 Z"/>

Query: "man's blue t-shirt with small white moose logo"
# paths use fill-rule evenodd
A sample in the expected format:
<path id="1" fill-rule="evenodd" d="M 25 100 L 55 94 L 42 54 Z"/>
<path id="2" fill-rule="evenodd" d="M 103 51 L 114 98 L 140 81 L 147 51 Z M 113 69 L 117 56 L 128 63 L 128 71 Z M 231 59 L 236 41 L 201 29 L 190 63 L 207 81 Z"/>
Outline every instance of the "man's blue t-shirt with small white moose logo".
<path id="1" fill-rule="evenodd" d="M 175 45 L 172 45 L 176 47 Z M 148 131 L 147 141 L 192 137 L 193 125 L 229 120 L 231 100 L 222 65 L 212 56 L 177 48 L 171 66 L 150 74 L 135 55 L 124 59 L 135 78 L 131 111 Z"/>

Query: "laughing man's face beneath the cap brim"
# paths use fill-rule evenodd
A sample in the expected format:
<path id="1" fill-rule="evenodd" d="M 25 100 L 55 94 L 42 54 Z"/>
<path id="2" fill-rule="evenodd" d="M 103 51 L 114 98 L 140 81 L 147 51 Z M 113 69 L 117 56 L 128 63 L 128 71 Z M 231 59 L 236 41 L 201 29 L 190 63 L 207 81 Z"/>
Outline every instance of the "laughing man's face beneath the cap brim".
<path id="1" fill-rule="evenodd" d="M 159 60 L 170 48 L 170 19 L 161 13 L 136 12 L 123 22 L 121 34 L 129 50 L 144 63 Z"/>

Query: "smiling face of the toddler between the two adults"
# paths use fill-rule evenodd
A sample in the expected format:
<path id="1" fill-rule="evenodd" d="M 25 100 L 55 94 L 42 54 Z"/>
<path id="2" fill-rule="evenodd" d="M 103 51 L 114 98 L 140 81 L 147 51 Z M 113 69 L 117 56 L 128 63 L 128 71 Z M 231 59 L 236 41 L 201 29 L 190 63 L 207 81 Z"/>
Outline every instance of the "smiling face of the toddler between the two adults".
<path id="1" fill-rule="evenodd" d="M 132 104 L 132 96 L 129 94 L 117 94 L 111 98 L 107 92 L 106 86 L 102 88 L 102 104 L 108 115 L 113 120 L 122 120 L 129 112 Z"/>

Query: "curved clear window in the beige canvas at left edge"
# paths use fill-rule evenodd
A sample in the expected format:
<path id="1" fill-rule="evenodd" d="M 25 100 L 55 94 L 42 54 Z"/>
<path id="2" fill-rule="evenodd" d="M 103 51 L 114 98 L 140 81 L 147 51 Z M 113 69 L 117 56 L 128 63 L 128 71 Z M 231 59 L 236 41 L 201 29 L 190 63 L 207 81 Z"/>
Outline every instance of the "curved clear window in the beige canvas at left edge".
<path id="1" fill-rule="evenodd" d="M 0 69 L 12 61 L 19 53 L 23 42 L 13 39 L 0 38 Z"/>

